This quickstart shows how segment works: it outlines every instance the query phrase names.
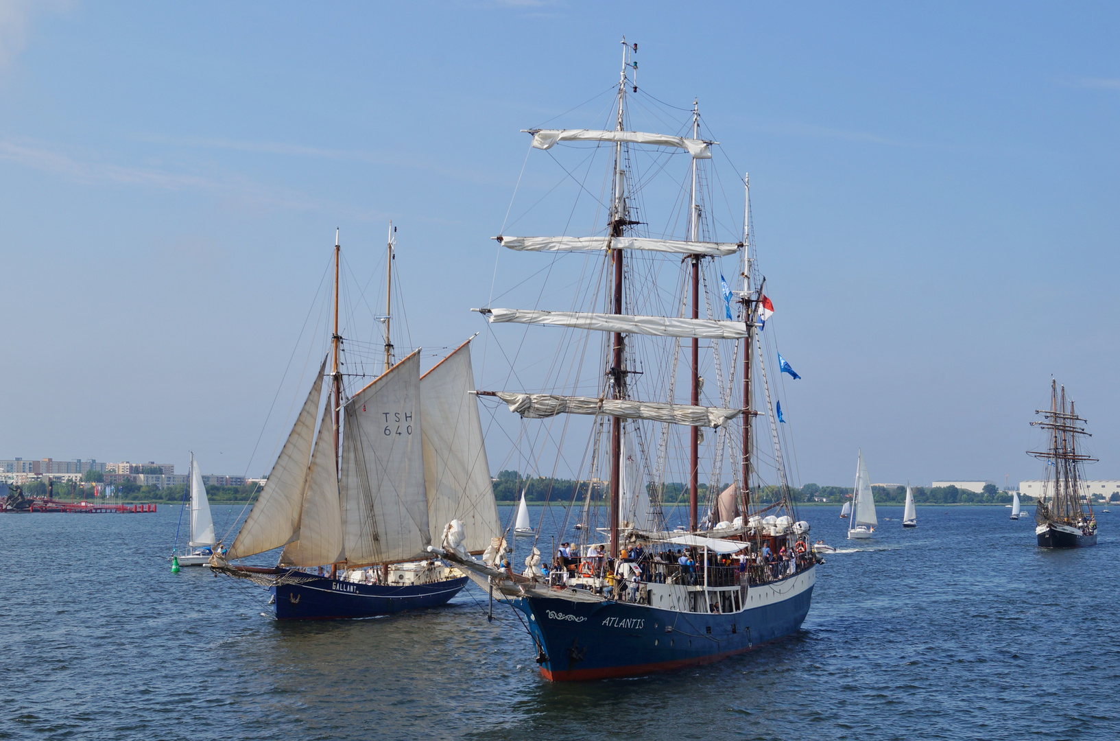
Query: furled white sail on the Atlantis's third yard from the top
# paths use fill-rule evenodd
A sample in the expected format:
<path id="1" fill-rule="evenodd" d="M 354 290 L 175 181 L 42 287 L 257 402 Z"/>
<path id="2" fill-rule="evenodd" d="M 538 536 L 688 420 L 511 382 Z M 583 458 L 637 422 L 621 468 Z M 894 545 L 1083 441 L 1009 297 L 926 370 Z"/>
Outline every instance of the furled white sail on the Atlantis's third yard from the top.
<path id="1" fill-rule="evenodd" d="M 741 340 L 747 336 L 745 322 L 725 319 L 685 319 L 671 316 L 631 316 L 591 312 L 545 312 L 530 308 L 478 309 L 492 324 L 551 324 L 576 330 L 650 334 L 660 337 L 699 337 L 701 340 Z"/>

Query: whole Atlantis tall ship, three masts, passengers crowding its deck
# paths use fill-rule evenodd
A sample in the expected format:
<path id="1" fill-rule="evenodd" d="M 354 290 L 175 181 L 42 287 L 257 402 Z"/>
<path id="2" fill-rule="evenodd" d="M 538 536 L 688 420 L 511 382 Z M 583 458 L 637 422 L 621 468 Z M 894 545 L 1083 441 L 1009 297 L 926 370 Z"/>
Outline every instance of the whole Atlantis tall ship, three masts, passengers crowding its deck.
<path id="1" fill-rule="evenodd" d="M 783 452 L 793 415 L 782 381 L 800 377 L 777 354 L 748 179 L 713 167 L 718 141 L 696 102 L 638 92 L 636 53 L 624 39 L 617 85 L 601 96 L 607 126 L 526 130 L 526 163 L 545 152 L 576 200 L 548 212 L 562 214 L 560 235 L 503 226 L 496 238 L 515 253 L 503 260 L 550 262 L 536 271 L 543 284 L 525 270 L 543 306 L 475 309 L 502 349 L 489 352 L 511 359 L 507 378 L 536 382 L 478 390 L 479 402 L 520 415 L 511 438 L 534 475 L 582 461 L 572 500 L 549 515 L 563 520 L 560 539 L 577 535 L 557 543 L 521 528 L 538 534 L 523 569 L 508 528 L 482 561 L 457 522 L 432 546 L 521 613 L 551 680 L 701 665 L 774 641 L 800 628 L 815 581 Z M 653 132 L 673 121 L 674 132 Z M 725 186 L 736 182 L 732 206 Z M 550 352 L 542 363 L 530 348 Z M 679 498 L 687 521 L 670 529 L 666 502 Z"/>

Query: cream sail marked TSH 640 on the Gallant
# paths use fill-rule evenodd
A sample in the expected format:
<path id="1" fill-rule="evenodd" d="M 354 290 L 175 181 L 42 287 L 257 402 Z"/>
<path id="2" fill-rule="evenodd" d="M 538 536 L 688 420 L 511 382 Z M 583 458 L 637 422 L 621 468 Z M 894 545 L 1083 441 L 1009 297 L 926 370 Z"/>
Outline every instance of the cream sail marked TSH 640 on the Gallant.
<path id="1" fill-rule="evenodd" d="M 339 489 L 347 564 L 427 557 L 419 351 L 354 395 L 345 415 Z"/>

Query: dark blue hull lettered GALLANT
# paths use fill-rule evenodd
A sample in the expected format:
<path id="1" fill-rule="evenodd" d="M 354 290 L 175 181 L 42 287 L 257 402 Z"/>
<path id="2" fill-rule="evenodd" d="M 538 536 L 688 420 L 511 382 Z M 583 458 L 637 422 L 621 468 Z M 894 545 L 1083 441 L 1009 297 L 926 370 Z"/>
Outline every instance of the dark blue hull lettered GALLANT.
<path id="1" fill-rule="evenodd" d="M 466 576 L 403 586 L 323 577 L 278 584 L 269 587 L 269 592 L 276 603 L 277 620 L 338 620 L 438 608 L 447 604 L 466 583 Z"/>

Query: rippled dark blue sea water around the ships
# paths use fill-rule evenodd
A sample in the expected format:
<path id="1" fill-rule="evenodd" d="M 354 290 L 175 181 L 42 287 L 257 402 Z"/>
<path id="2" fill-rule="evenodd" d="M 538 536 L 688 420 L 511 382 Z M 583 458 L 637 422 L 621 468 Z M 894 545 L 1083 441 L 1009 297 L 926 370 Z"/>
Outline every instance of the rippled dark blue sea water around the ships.
<path id="1" fill-rule="evenodd" d="M 236 511 L 214 508 L 220 529 Z M 880 507 L 878 537 L 849 548 L 838 508 L 805 508 L 847 553 L 819 567 L 797 635 L 562 685 L 474 586 L 407 617 L 281 624 L 259 587 L 169 572 L 176 508 L 0 516 L 0 738 L 1120 738 L 1120 511 L 1070 552 L 1009 511 L 918 507 L 903 530 Z"/>

